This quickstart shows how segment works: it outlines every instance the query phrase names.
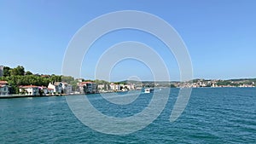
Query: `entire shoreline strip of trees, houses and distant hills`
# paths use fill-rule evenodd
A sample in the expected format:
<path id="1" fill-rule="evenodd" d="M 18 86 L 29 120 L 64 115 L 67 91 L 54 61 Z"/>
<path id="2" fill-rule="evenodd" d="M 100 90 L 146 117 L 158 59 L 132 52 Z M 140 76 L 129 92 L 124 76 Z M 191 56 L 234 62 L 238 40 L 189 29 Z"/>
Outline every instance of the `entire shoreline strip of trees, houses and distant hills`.
<path id="1" fill-rule="evenodd" d="M 150 82 L 125 80 L 107 82 L 104 80 L 86 80 L 55 74 L 34 74 L 25 71 L 23 66 L 10 68 L 0 66 L 0 96 L 5 95 L 80 95 L 107 92 L 139 90 L 147 87 L 204 88 L 204 87 L 255 87 L 256 78 L 242 79 L 194 79 L 188 82 Z"/>

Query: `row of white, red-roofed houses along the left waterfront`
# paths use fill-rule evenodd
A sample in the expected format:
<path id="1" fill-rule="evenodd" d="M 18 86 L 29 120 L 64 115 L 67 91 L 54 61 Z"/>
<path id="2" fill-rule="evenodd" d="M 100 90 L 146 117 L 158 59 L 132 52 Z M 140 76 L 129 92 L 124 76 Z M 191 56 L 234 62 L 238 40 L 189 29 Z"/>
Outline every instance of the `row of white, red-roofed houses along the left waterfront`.
<path id="1" fill-rule="evenodd" d="M 94 82 L 79 82 L 78 89 L 65 82 L 49 83 L 47 87 L 38 85 L 20 85 L 19 95 L 60 95 L 60 94 L 95 94 L 108 91 L 126 91 L 135 89 L 135 84 L 96 84 Z M 9 84 L 0 81 L 0 95 L 9 95 Z"/>

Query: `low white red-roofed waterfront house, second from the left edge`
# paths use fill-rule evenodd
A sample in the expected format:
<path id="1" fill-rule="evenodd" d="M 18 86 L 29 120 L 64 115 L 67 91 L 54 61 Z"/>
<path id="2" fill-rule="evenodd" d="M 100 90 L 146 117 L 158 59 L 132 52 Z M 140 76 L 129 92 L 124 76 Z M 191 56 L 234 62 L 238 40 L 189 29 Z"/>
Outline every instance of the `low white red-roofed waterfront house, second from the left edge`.
<path id="1" fill-rule="evenodd" d="M 24 95 L 39 95 L 39 87 L 36 85 L 20 86 L 19 91 Z"/>

